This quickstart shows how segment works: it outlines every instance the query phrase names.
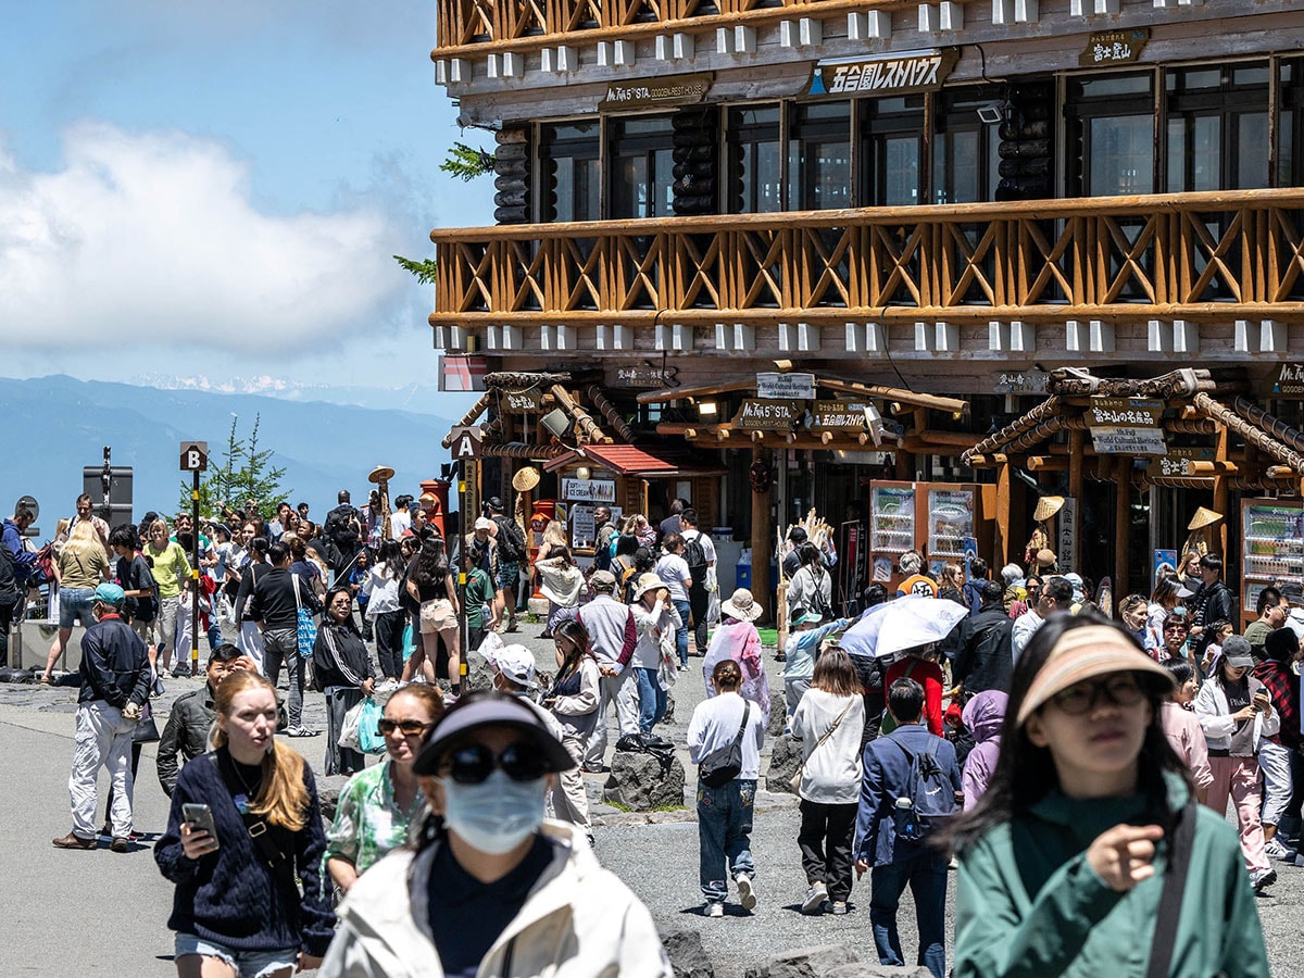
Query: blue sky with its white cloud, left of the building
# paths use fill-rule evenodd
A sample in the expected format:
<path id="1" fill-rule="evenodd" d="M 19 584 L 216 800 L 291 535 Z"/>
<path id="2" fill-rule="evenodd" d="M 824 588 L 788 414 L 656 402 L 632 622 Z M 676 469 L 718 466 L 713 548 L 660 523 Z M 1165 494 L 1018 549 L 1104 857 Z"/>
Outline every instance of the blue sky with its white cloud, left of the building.
<path id="1" fill-rule="evenodd" d="M 4 7 L 0 373 L 433 385 L 390 254 L 493 223 L 433 0 Z"/>

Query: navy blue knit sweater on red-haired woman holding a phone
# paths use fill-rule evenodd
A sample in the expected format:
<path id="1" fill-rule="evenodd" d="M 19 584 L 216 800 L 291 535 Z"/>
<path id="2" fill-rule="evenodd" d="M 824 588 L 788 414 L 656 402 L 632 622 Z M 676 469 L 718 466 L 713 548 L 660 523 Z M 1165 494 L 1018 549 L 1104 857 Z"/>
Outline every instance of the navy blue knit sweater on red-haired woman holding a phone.
<path id="1" fill-rule="evenodd" d="M 300 895 L 297 888 L 291 889 L 276 879 L 256 849 L 223 777 L 223 771 L 227 778 L 233 777 L 231 755 L 223 747 L 216 756 L 218 764 L 201 756 L 181 768 L 172 792 L 167 832 L 154 846 L 159 870 L 176 883 L 167 926 L 240 951 L 293 948 L 323 956 L 334 935 L 335 913 L 321 878 L 326 835 L 312 769 L 304 765 L 310 798 L 308 824 L 299 832 L 269 827 L 273 844 L 295 855 L 295 874 L 304 887 Z M 218 852 L 188 859 L 181 850 L 181 823 L 185 820 L 181 806 L 186 802 L 213 808 L 220 844 Z"/>

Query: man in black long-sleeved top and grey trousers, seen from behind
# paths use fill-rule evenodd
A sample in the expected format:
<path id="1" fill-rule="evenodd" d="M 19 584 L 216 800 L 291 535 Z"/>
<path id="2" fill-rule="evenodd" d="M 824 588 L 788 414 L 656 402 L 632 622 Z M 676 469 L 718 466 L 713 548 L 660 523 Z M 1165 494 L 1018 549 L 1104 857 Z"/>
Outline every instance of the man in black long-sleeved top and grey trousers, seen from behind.
<path id="1" fill-rule="evenodd" d="M 271 570 L 258 575 L 249 601 L 249 617 L 262 631 L 263 673 L 275 686 L 280 679 L 280 666 L 289 674 L 289 711 L 287 737 L 316 737 L 321 730 L 309 730 L 304 719 L 304 662 L 299 657 L 299 605 L 317 614 L 321 604 L 306 583 L 289 572 L 289 548 L 279 540 L 267 548 Z"/>

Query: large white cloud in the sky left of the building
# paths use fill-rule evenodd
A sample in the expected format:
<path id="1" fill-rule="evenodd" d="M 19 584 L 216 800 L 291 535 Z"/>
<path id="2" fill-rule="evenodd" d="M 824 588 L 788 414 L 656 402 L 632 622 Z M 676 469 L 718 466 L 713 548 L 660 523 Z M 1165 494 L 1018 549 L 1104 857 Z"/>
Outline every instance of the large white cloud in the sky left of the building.
<path id="1" fill-rule="evenodd" d="M 83 123 L 64 145 L 56 173 L 0 146 L 0 344 L 303 353 L 390 319 L 409 288 L 378 207 L 262 214 L 248 167 L 180 132 Z"/>

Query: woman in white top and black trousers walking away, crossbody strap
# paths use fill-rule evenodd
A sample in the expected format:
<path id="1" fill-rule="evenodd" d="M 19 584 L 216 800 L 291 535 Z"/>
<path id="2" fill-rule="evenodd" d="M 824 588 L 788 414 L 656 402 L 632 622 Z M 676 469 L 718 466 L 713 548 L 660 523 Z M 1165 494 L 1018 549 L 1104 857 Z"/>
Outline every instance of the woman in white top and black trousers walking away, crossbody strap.
<path id="1" fill-rule="evenodd" d="M 865 698 L 852 657 L 829 649 L 815 662 L 811 687 L 793 713 L 793 737 L 802 742 L 802 828 L 797 845 L 806 871 L 803 914 L 818 914 L 832 898 L 832 913 L 846 913 L 852 893 L 852 852 L 861 799 L 861 732 Z"/>

